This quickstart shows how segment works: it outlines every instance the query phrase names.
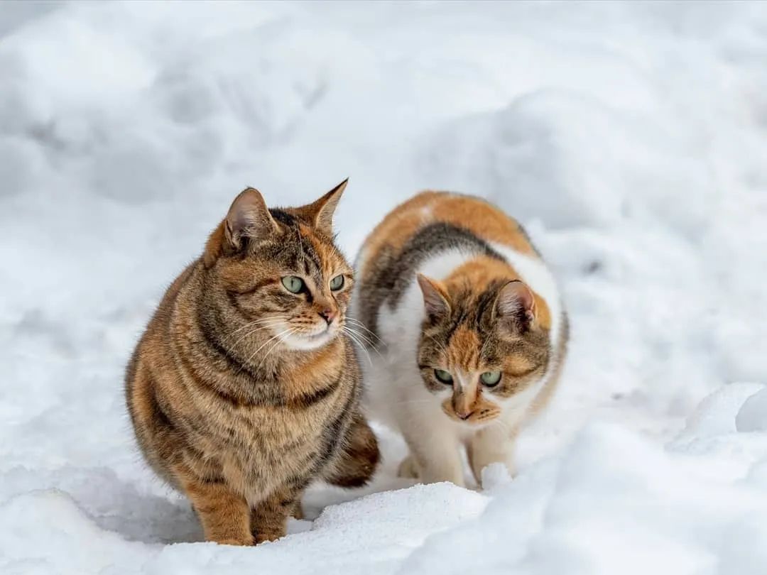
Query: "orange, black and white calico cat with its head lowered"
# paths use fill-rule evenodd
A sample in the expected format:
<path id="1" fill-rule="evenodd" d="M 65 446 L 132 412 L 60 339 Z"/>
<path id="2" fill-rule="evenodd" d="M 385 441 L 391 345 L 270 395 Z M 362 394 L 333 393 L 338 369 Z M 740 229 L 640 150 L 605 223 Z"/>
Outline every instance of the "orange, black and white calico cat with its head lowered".
<path id="1" fill-rule="evenodd" d="M 403 433 L 400 475 L 464 485 L 501 462 L 557 383 L 568 322 L 515 220 L 468 195 L 423 192 L 390 212 L 357 259 L 371 416 Z M 367 366 L 366 366 L 367 367 Z"/>

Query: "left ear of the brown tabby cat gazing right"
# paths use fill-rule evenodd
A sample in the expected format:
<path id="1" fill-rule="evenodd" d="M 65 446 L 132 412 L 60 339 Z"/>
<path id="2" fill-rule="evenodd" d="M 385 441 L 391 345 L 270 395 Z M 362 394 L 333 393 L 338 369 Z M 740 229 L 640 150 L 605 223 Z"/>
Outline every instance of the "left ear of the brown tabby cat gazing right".
<path id="1" fill-rule="evenodd" d="M 266 237 L 279 232 L 261 192 L 247 188 L 235 198 L 224 221 L 208 238 L 202 260 L 209 268 L 225 251 L 242 249 L 243 238 Z"/>

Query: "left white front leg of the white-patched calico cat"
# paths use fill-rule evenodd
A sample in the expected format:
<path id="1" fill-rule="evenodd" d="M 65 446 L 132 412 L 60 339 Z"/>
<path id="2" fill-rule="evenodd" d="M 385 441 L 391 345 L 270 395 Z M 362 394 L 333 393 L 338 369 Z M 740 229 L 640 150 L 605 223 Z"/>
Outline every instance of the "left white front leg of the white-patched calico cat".
<path id="1" fill-rule="evenodd" d="M 410 471 L 423 483 L 451 481 L 464 487 L 461 442 L 453 423 L 441 413 L 434 418 L 404 412 L 403 416 L 400 430 L 410 447 L 411 462 L 406 459 L 400 471 Z"/>

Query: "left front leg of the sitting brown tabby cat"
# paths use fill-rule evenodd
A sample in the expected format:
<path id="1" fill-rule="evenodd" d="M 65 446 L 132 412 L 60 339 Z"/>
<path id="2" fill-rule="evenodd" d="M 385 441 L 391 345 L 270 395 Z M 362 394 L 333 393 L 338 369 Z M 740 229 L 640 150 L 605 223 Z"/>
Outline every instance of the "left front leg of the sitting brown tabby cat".
<path id="1" fill-rule="evenodd" d="M 192 501 L 202 524 L 206 541 L 225 545 L 252 545 L 250 509 L 242 495 L 223 481 L 181 478 L 180 483 Z"/>

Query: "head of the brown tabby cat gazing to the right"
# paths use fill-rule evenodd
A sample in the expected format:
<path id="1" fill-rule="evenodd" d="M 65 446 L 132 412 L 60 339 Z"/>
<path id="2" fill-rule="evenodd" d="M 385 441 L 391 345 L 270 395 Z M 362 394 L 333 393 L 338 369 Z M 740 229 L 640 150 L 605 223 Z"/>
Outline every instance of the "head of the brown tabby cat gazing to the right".
<path id="1" fill-rule="evenodd" d="M 295 350 L 321 347 L 341 332 L 354 278 L 334 245 L 331 218 L 344 186 L 293 209 L 266 209 L 254 189 L 235 199 L 211 267 L 236 323 Z"/>

